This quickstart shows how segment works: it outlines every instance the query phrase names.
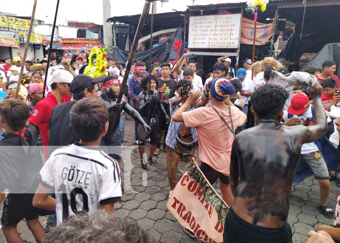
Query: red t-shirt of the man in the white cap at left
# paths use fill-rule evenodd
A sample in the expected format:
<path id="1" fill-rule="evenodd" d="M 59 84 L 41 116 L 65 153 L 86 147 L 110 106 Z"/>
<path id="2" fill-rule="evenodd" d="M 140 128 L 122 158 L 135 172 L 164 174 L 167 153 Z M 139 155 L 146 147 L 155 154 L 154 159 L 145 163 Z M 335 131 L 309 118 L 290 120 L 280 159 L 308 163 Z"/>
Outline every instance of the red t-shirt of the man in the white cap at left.
<path id="1" fill-rule="evenodd" d="M 58 104 L 54 94 L 48 93 L 47 97 L 38 102 L 32 111 L 32 114 L 28 121 L 31 121 L 35 126 L 39 126 L 41 140 L 44 146 L 44 159 L 47 160 L 48 145 L 49 145 L 49 122 L 51 113 Z"/>

